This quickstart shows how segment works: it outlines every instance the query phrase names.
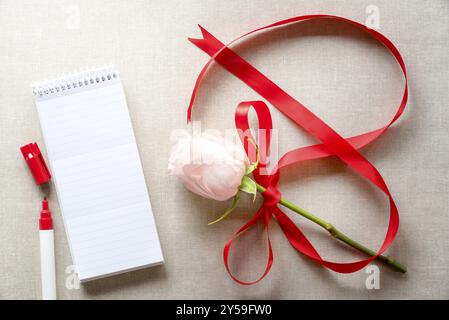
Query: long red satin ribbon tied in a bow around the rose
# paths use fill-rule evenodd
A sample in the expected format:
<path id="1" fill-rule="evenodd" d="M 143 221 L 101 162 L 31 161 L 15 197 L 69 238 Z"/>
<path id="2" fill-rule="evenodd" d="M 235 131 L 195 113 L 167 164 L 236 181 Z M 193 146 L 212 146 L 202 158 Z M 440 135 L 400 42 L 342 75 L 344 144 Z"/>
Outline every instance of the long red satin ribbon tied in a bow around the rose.
<path id="1" fill-rule="evenodd" d="M 361 135 L 353 136 L 350 138 L 344 138 L 341 135 L 339 135 L 335 130 L 333 130 L 328 124 L 326 124 L 323 120 L 321 120 L 319 117 L 313 114 L 302 103 L 300 103 L 299 101 L 291 97 L 289 94 L 287 94 L 279 86 L 273 83 L 260 71 L 258 71 L 251 64 L 249 64 L 247 61 L 245 61 L 243 58 L 241 58 L 238 54 L 236 54 L 229 48 L 229 46 L 232 43 L 257 31 L 312 19 L 337 19 L 346 23 L 350 23 L 360 29 L 363 29 L 366 32 L 368 32 L 371 36 L 373 36 L 377 41 L 384 44 L 385 47 L 396 58 L 405 77 L 404 94 L 396 114 L 387 125 L 377 130 L 370 131 Z M 245 147 L 245 151 L 247 152 L 251 161 L 255 160 L 254 159 L 255 152 L 252 152 L 254 150 L 251 150 L 251 148 L 255 147 L 252 146 L 252 144 L 248 143 L 248 139 L 252 139 L 253 141 L 255 141 L 250 136 L 248 130 L 249 129 L 248 112 L 251 107 L 253 107 L 257 113 L 257 117 L 259 120 L 259 128 L 265 129 L 263 131 L 260 131 L 266 133 L 265 136 L 266 146 L 265 148 L 260 148 L 260 150 L 262 151 L 261 165 L 253 173 L 255 180 L 259 184 L 265 186 L 267 190 L 262 194 L 264 197 L 264 202 L 263 205 L 260 207 L 260 209 L 257 211 L 257 213 L 245 225 L 243 225 L 233 235 L 231 239 L 229 239 L 229 241 L 226 243 L 224 247 L 223 258 L 228 273 L 235 281 L 245 285 L 255 284 L 260 280 L 262 280 L 268 274 L 273 264 L 273 252 L 269 237 L 269 223 L 272 215 L 274 215 L 274 217 L 276 218 L 277 222 L 279 223 L 282 231 L 284 232 L 290 244 L 298 252 L 306 255 L 307 257 L 318 262 L 319 264 L 340 273 L 355 272 L 368 265 L 371 261 L 376 259 L 385 250 L 387 250 L 388 247 L 390 247 L 390 245 L 393 243 L 399 227 L 399 215 L 393 197 L 390 191 L 388 190 L 388 187 L 384 179 L 382 178 L 381 174 L 357 150 L 369 144 L 370 142 L 376 140 L 380 135 L 382 135 L 400 117 L 400 115 L 403 113 L 405 109 L 408 98 L 407 72 L 404 61 L 398 49 L 394 46 L 394 44 L 390 40 L 388 40 L 381 33 L 372 30 L 358 22 L 332 15 L 306 15 L 278 21 L 273 24 L 245 33 L 244 35 L 234 39 L 227 45 L 220 42 L 218 39 L 216 39 L 213 35 L 211 35 L 201 26 L 199 27 L 203 34 L 203 39 L 189 39 L 189 40 L 193 44 L 195 44 L 198 48 L 206 52 L 211 58 L 203 67 L 196 80 L 188 109 L 188 116 L 187 116 L 188 121 L 190 121 L 191 119 L 191 111 L 193 103 L 201 80 L 204 77 L 209 65 L 213 61 L 216 61 L 220 65 L 222 65 L 225 69 L 227 69 L 229 72 L 231 72 L 240 80 L 242 80 L 244 83 L 246 83 L 254 91 L 259 93 L 263 98 L 265 98 L 278 110 L 280 110 L 287 117 L 293 120 L 298 126 L 302 127 L 309 134 L 311 134 L 312 136 L 314 136 L 315 138 L 317 138 L 322 142 L 322 144 L 317 144 L 308 147 L 301 147 L 287 152 L 281 157 L 281 159 L 278 161 L 277 166 L 269 175 L 262 174 L 261 170 L 265 169 L 266 163 L 264 160 L 268 156 L 268 150 L 270 147 L 270 135 L 272 129 L 272 121 L 269 109 L 267 105 L 262 101 L 242 102 L 238 105 L 235 114 L 235 123 L 237 129 L 240 129 L 239 130 L 240 138 Z M 380 249 L 378 250 L 376 256 L 349 263 L 338 263 L 323 260 L 320 257 L 319 253 L 315 250 L 313 245 L 310 243 L 310 241 L 301 232 L 301 230 L 278 207 L 278 202 L 281 199 L 281 194 L 277 190 L 280 171 L 292 164 L 297 164 L 305 160 L 319 159 L 328 156 L 339 157 L 343 162 L 345 162 L 352 169 L 354 169 L 359 175 L 366 178 L 377 188 L 379 188 L 383 193 L 385 193 L 385 195 L 389 199 L 390 220 L 388 224 L 388 229 L 385 235 L 384 242 L 380 247 Z M 259 220 L 263 220 L 265 224 L 265 232 L 267 235 L 267 242 L 268 242 L 267 265 L 265 271 L 259 277 L 259 279 L 252 282 L 244 282 L 237 279 L 229 270 L 228 266 L 229 251 L 232 241 L 236 237 L 238 237 L 242 232 L 253 226 Z"/>

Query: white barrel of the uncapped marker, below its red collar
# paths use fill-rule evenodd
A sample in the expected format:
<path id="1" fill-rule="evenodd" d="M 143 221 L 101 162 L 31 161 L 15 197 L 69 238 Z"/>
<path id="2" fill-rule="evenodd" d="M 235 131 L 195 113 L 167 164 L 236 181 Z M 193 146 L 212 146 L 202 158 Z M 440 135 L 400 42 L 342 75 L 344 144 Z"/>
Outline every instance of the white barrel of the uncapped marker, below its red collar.
<path id="1" fill-rule="evenodd" d="M 42 299 L 56 300 L 55 242 L 53 230 L 39 231 Z"/>

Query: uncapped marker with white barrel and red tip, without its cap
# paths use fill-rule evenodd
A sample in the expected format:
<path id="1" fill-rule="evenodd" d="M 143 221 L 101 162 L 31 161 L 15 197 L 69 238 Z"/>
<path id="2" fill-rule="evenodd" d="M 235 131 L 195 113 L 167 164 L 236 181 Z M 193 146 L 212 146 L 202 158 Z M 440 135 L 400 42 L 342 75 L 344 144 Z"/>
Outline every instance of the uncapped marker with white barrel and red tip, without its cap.
<path id="1" fill-rule="evenodd" d="M 39 242 L 41 252 L 42 299 L 56 300 L 56 268 L 55 241 L 53 234 L 53 219 L 48 209 L 47 198 L 42 201 L 39 217 Z"/>

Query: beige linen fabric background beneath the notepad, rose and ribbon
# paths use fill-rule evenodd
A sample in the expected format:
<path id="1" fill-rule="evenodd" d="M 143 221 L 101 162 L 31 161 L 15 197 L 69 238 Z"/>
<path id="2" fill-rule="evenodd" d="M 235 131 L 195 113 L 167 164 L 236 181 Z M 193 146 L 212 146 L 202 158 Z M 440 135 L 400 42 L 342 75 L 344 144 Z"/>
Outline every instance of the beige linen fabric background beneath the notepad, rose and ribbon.
<path id="1" fill-rule="evenodd" d="M 375 7 L 367 14 L 370 5 Z M 187 37 L 199 35 L 200 23 L 226 42 L 255 27 L 311 13 L 364 23 L 373 8 L 379 10 L 380 31 L 404 56 L 410 100 L 404 117 L 363 154 L 381 171 L 397 201 L 401 225 L 389 254 L 406 263 L 409 272 L 400 275 L 380 265 L 380 289 L 368 290 L 364 270 L 342 275 L 311 263 L 290 247 L 273 221 L 271 273 L 258 285 L 240 286 L 225 272 L 222 249 L 255 205 L 244 200 L 229 219 L 208 227 L 228 203 L 187 192 L 166 171 L 170 135 L 186 128 L 191 89 L 207 61 Z M 46 191 L 33 184 L 19 153 L 19 146 L 34 140 L 44 147 L 30 85 L 108 63 L 122 76 L 166 263 L 73 288 L 72 261 L 52 188 L 60 298 L 449 298 L 448 28 L 445 0 L 0 0 L 0 298 L 40 297 L 36 225 Z M 345 136 L 387 123 L 402 95 L 403 79 L 388 52 L 339 22 L 277 29 L 235 49 Z M 232 129 L 237 103 L 259 98 L 213 66 L 194 119 L 201 120 L 203 129 Z M 271 109 L 279 153 L 314 142 Z M 380 245 L 388 204 L 366 181 L 334 158 L 288 172 L 280 184 L 286 198 L 361 242 Z M 361 258 L 305 219 L 290 216 L 324 257 Z M 231 265 L 242 278 L 253 279 L 262 271 L 264 241 L 259 227 L 236 244 Z"/>

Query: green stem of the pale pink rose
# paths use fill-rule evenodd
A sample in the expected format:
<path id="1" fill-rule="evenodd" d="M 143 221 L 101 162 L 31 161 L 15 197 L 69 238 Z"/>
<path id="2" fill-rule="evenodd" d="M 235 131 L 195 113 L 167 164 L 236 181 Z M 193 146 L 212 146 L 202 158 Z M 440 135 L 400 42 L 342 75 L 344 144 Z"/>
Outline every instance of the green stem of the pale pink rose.
<path id="1" fill-rule="evenodd" d="M 265 192 L 265 188 L 263 186 L 261 186 L 260 184 L 256 183 L 257 186 L 257 191 L 259 191 L 260 193 Z M 304 209 L 301 209 L 300 207 L 298 207 L 297 205 L 291 203 L 288 200 L 285 199 L 281 199 L 279 201 L 280 204 L 282 204 L 284 207 L 289 208 L 290 210 L 293 210 L 294 212 L 300 214 L 301 216 L 303 216 L 306 219 L 309 219 L 310 221 L 315 222 L 316 224 L 318 224 L 319 226 L 323 227 L 324 229 L 326 229 L 334 238 L 337 238 L 338 240 L 346 243 L 347 245 L 359 250 L 360 252 L 363 252 L 371 257 L 376 255 L 376 252 L 365 247 L 364 245 L 358 243 L 357 241 L 351 239 L 350 237 L 348 237 L 347 235 L 345 235 L 344 233 L 342 233 L 341 231 L 337 230 L 331 223 L 318 218 L 317 216 L 305 211 Z M 406 273 L 407 272 L 407 267 L 402 265 L 401 263 L 397 262 L 396 260 L 394 260 L 393 258 L 389 257 L 389 256 L 384 256 L 384 255 L 380 255 L 377 257 L 378 260 L 381 260 L 382 262 L 388 264 L 390 267 L 392 267 L 393 269 L 395 269 L 396 271 L 402 272 L 402 273 Z"/>

